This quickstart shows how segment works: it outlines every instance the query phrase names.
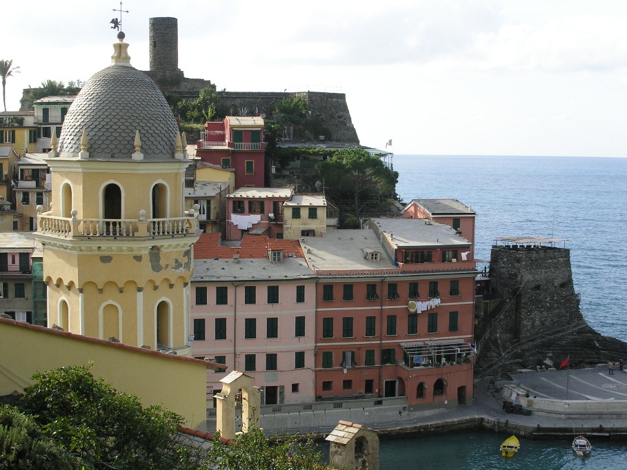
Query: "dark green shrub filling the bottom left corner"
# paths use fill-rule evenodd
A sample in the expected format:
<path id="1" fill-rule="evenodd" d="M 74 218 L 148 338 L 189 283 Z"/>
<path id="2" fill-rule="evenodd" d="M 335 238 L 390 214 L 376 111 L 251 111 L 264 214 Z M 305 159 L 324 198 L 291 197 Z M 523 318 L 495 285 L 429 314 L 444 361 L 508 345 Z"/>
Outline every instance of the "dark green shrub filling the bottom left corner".
<path id="1" fill-rule="evenodd" d="M 44 436 L 31 418 L 12 407 L 0 407 L 0 469 L 77 468 L 80 468 L 77 460 Z"/>

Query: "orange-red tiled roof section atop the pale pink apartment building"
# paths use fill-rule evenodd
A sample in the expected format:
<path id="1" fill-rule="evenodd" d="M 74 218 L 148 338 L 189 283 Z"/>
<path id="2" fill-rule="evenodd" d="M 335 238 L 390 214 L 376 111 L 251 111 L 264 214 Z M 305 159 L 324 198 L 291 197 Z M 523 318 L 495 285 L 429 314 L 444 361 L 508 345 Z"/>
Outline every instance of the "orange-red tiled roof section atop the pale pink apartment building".
<path id="1" fill-rule="evenodd" d="M 283 256 L 292 254 L 295 258 L 304 258 L 303 249 L 297 240 L 279 240 L 268 238 L 265 235 L 245 234 L 239 247 L 225 247 L 220 245 L 220 234 L 201 234 L 194 245 L 195 259 L 232 258 L 239 254 L 239 258 L 267 258 L 268 246 L 270 249 L 282 250 Z"/>

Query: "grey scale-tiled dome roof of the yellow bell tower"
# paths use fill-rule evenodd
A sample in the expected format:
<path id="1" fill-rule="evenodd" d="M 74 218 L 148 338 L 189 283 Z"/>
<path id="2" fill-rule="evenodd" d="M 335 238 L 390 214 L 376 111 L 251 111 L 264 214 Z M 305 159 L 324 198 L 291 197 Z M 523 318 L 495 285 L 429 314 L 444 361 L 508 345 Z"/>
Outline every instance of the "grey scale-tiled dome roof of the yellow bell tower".
<path id="1" fill-rule="evenodd" d="M 139 130 L 144 159 L 174 159 L 177 132 L 166 98 L 150 77 L 113 63 L 83 85 L 63 121 L 59 156 L 81 151 L 83 128 L 89 158 L 130 159 Z"/>

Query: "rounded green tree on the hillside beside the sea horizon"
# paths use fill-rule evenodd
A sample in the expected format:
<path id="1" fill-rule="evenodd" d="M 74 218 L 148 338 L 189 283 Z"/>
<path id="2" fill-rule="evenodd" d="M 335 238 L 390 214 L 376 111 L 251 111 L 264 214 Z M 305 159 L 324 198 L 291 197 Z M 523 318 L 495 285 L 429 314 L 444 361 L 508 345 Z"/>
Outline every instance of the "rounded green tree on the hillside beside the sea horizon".
<path id="1" fill-rule="evenodd" d="M 372 196 L 395 192 L 398 172 L 390 170 L 378 156 L 358 148 L 342 149 L 318 164 L 318 174 L 324 178 L 331 198 L 352 200 L 357 215 L 362 201 Z"/>

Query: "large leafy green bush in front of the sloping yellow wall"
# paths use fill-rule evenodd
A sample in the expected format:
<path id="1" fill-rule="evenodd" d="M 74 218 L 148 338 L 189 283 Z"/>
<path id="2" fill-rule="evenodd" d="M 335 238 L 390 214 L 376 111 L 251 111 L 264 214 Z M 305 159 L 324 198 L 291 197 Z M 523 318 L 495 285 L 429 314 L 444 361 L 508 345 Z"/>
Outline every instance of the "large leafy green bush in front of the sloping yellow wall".
<path id="1" fill-rule="evenodd" d="M 183 419 L 161 407 L 116 391 L 90 366 L 61 367 L 35 374 L 24 389 L 23 411 L 43 433 L 86 467 L 188 469 L 188 449 L 175 440 Z"/>

